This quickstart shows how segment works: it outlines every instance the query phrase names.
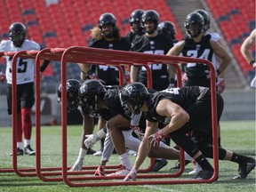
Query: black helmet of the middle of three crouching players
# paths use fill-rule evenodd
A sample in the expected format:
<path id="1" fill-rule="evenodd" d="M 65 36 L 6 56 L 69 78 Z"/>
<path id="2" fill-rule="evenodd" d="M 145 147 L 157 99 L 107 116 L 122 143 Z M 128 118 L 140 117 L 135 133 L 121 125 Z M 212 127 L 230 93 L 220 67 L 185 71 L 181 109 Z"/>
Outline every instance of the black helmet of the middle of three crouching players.
<path id="1" fill-rule="evenodd" d="M 98 99 L 103 98 L 106 92 L 100 81 L 95 79 L 85 81 L 78 92 L 82 108 L 85 108 L 92 117 L 99 116 Z"/>

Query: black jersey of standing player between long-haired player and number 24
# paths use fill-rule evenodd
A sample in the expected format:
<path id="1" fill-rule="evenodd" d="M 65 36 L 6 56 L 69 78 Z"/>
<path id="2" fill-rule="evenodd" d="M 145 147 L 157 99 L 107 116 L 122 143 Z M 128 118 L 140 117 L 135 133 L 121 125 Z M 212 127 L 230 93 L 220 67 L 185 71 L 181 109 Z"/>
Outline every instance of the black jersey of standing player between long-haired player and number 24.
<path id="1" fill-rule="evenodd" d="M 132 42 L 132 52 L 144 52 L 151 54 L 166 54 L 173 46 L 172 38 L 158 33 L 155 37 L 137 36 Z M 160 91 L 167 88 L 169 77 L 167 66 L 165 64 L 152 64 L 152 83 L 153 89 Z M 138 81 L 147 86 L 147 70 L 144 67 L 139 67 Z"/>

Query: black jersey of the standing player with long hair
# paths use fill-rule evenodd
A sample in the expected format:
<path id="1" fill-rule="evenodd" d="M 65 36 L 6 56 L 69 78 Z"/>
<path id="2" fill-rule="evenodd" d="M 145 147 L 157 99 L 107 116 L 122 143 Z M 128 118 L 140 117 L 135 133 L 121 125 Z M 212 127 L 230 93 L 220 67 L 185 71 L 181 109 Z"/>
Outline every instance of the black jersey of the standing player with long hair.
<path id="1" fill-rule="evenodd" d="M 124 37 L 121 37 L 120 40 L 114 41 L 106 41 L 105 39 L 94 40 L 90 47 L 130 51 L 131 44 Z M 95 72 L 105 84 L 119 84 L 119 71 L 115 66 L 94 65 L 92 66 L 92 71 Z"/>

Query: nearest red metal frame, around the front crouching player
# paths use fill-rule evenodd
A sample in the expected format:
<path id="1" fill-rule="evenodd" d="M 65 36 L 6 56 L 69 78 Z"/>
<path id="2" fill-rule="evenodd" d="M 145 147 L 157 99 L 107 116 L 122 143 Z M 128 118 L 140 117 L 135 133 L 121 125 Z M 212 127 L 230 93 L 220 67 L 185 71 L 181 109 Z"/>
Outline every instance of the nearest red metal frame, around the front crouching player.
<path id="1" fill-rule="evenodd" d="M 215 79 L 215 70 L 212 63 L 209 60 L 195 59 L 195 58 L 186 58 L 178 56 L 167 56 L 167 55 L 156 55 L 156 54 L 146 54 L 140 52 L 124 52 L 116 50 L 105 50 L 105 49 L 96 49 L 88 47 L 73 46 L 69 47 L 61 56 L 61 84 L 65 84 L 67 81 L 67 71 L 66 65 L 69 58 L 75 58 L 78 60 L 86 60 L 88 63 L 101 62 L 101 64 L 109 65 L 115 63 L 122 63 L 128 65 L 148 65 L 154 63 L 165 63 L 173 64 L 176 68 L 178 76 L 181 77 L 180 68 L 178 63 L 180 62 L 200 62 L 209 66 L 211 70 L 211 78 Z M 78 58 L 79 57 L 79 58 Z M 81 57 L 81 58 L 80 58 Z M 95 61 L 96 60 L 96 61 Z M 179 78 L 180 78 L 179 77 Z M 180 86 L 180 80 L 178 85 Z M 218 140 L 217 140 L 217 111 L 216 111 L 216 92 L 215 92 L 215 81 L 211 81 L 211 104 L 212 104 L 212 140 L 213 140 L 213 175 L 209 180 L 143 180 L 143 181 L 108 181 L 108 182 L 86 182 L 86 183 L 74 183 L 72 178 L 68 178 L 67 170 L 67 90 L 66 86 L 61 86 L 61 126 L 62 126 L 62 177 L 65 183 L 70 187 L 99 187 L 99 186 L 116 186 L 116 185 L 145 185 L 145 184 L 189 184 L 189 183 L 209 183 L 214 180 L 217 180 L 219 173 L 219 154 L 218 154 Z M 173 178 L 178 177 L 184 171 L 184 153 L 180 150 L 180 172 L 176 174 L 139 174 L 138 179 L 152 179 L 152 178 Z M 113 177 L 85 177 L 81 180 L 113 180 L 113 179 L 124 179 L 123 176 L 113 176 Z"/>

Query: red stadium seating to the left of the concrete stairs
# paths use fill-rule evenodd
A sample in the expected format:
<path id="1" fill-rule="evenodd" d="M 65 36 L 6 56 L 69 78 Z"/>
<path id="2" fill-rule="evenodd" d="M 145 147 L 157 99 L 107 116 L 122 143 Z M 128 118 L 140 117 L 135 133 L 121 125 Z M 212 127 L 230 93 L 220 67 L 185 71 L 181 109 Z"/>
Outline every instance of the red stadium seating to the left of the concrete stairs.
<path id="1" fill-rule="evenodd" d="M 177 24 L 164 0 L 151 1 L 150 4 L 147 0 L 0 0 L 0 4 L 3 4 L 0 10 L 4 13 L 4 17 L 0 18 L 2 39 L 9 38 L 10 24 L 20 21 L 27 26 L 28 38 L 43 47 L 86 46 L 90 38 L 90 29 L 97 26 L 100 14 L 104 12 L 112 12 L 116 16 L 116 25 L 121 29 L 121 36 L 130 31 L 130 14 L 138 8 L 156 9 L 161 15 L 161 20 L 172 20 Z M 180 28 L 177 28 L 177 32 L 181 38 Z M 4 63 L 4 60 L 1 60 L 1 63 Z M 79 76 L 79 68 L 74 64 L 68 65 L 68 77 Z M 44 72 L 42 91 L 55 91 L 54 86 L 49 88 L 49 84 L 53 82 L 60 82 L 60 62 L 52 63 Z M 44 84 L 48 87 L 44 87 Z"/>

